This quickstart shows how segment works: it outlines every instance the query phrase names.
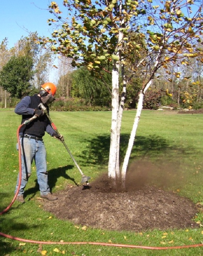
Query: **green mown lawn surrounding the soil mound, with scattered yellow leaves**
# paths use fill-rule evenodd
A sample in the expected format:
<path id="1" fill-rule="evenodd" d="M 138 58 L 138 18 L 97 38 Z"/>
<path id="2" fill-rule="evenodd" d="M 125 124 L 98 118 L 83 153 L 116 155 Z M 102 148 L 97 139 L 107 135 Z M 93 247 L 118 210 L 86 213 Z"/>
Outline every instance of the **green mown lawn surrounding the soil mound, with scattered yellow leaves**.
<path id="1" fill-rule="evenodd" d="M 85 175 L 96 179 L 107 172 L 111 112 L 51 112 L 51 119 L 64 135 L 65 142 Z M 135 111 L 125 111 L 121 130 L 121 158 L 127 147 Z M 0 110 L 0 211 L 12 201 L 18 173 L 16 131 L 21 116 L 13 110 Z M 136 159 L 150 160 L 158 166 L 150 181 L 165 190 L 172 190 L 203 203 L 203 115 L 176 114 L 173 111 L 144 110 L 138 125 L 136 142 L 130 162 Z M 81 175 L 68 155 L 64 145 L 49 135 L 44 137 L 47 149 L 49 184 L 52 191 L 75 185 Z M 172 171 L 171 171 L 172 170 Z M 160 176 L 162 179 L 160 179 Z M 170 181 L 170 182 L 169 182 Z M 203 229 L 148 230 L 148 232 L 113 232 L 82 227 L 57 219 L 42 209 L 33 165 L 32 175 L 26 186 L 26 203 L 15 202 L 9 212 L 0 216 L 0 232 L 24 239 L 39 241 L 100 241 L 145 246 L 179 246 L 199 244 L 203 241 Z M 29 198 L 29 201 L 28 201 Z M 203 224 L 203 214 L 196 216 Z M 163 235 L 167 233 L 167 235 Z M 166 236 L 163 238 L 163 236 Z M 42 245 L 20 243 L 0 236 L 0 255 L 65 255 L 124 256 L 124 255 L 187 255 L 200 256 L 203 247 L 181 250 L 143 250 L 93 245 Z"/>

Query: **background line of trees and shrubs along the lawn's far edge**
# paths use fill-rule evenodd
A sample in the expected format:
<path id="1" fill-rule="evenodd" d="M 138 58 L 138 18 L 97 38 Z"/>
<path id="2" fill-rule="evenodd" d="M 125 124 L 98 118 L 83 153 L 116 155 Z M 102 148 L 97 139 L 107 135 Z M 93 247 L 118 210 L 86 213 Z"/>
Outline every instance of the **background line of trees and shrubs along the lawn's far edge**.
<path id="1" fill-rule="evenodd" d="M 53 54 L 49 49 L 36 44 L 37 40 L 38 34 L 35 32 L 21 38 L 11 49 L 7 48 L 7 38 L 1 42 L 1 108 L 15 107 L 19 99 L 38 92 L 40 85 L 49 80 L 50 67 L 54 65 Z M 201 43 L 198 48 L 203 51 Z M 131 57 L 135 58 L 134 55 L 132 52 Z M 158 109 L 161 105 L 189 109 L 203 107 L 203 59 L 197 56 L 188 58 L 185 63 L 181 62 L 170 64 L 167 70 L 164 67 L 159 69 L 153 86 L 145 95 L 143 108 Z M 73 68 L 71 59 L 61 56 L 57 63 L 57 77 L 52 81 L 57 85 L 57 100 L 53 108 L 110 109 L 112 65 L 105 68 L 109 73 L 101 71 L 98 75 L 86 67 Z M 138 92 L 143 80 L 143 67 L 139 67 L 127 85 L 125 108 L 137 107 Z"/>

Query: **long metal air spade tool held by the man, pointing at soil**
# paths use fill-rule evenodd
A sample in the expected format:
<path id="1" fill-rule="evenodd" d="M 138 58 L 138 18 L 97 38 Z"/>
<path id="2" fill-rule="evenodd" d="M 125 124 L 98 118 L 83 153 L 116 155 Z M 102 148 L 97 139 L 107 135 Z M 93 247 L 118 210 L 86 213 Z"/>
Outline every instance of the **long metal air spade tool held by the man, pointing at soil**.
<path id="1" fill-rule="evenodd" d="M 56 126 L 54 125 L 53 121 L 51 120 L 51 118 L 50 118 L 50 116 L 49 116 L 49 113 L 48 113 L 46 107 L 44 106 L 44 104 L 43 104 L 43 103 L 40 103 L 38 107 L 40 107 L 40 108 L 42 109 L 42 111 L 44 112 L 44 114 L 47 116 L 47 118 L 49 119 L 49 121 L 50 121 L 50 123 L 51 123 L 52 128 L 54 129 L 54 131 L 55 131 L 57 134 L 60 134 L 59 131 L 57 130 Z M 64 141 L 64 140 L 61 140 L 61 142 L 64 144 L 64 146 L 65 146 L 65 148 L 67 149 L 68 153 L 70 154 L 70 156 L 71 156 L 73 162 L 75 163 L 77 169 L 79 170 L 79 172 L 80 172 L 81 175 L 82 175 L 81 183 L 82 183 L 82 184 L 83 184 L 83 183 L 86 183 L 87 185 L 89 185 L 88 181 L 91 179 L 91 177 L 86 176 L 86 175 L 83 174 L 83 172 L 82 172 L 82 170 L 79 168 L 79 165 L 77 164 L 75 158 L 73 157 L 73 155 L 71 154 L 69 148 L 67 147 L 65 141 Z"/>

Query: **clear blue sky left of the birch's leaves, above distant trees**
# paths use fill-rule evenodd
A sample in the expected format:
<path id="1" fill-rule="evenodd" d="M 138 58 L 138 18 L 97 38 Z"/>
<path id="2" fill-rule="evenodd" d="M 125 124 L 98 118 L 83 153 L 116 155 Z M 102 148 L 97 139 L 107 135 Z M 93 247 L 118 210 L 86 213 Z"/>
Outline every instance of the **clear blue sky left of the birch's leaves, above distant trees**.
<path id="1" fill-rule="evenodd" d="M 39 36 L 51 36 L 51 26 L 48 18 L 53 18 L 49 13 L 49 0 L 1 0 L 0 15 L 0 42 L 7 37 L 8 48 L 28 32 L 38 32 Z M 60 4 L 62 1 L 56 1 Z"/>

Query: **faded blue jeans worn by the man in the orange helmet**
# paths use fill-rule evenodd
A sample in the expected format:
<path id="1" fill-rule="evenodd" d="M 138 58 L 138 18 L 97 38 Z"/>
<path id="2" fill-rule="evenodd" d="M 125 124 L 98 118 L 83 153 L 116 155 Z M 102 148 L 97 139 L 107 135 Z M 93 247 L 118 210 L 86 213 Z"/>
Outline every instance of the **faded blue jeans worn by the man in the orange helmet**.
<path id="1" fill-rule="evenodd" d="M 22 177 L 21 186 L 18 192 L 18 196 L 23 195 L 24 188 L 31 175 L 31 165 L 33 159 L 36 165 L 37 181 L 39 184 L 40 195 L 46 195 L 50 193 L 48 185 L 48 173 L 46 171 L 46 149 L 43 141 L 36 141 L 33 138 L 20 138 L 21 143 L 21 161 L 22 161 Z M 17 178 L 17 185 L 15 194 L 18 189 L 19 174 Z"/>

